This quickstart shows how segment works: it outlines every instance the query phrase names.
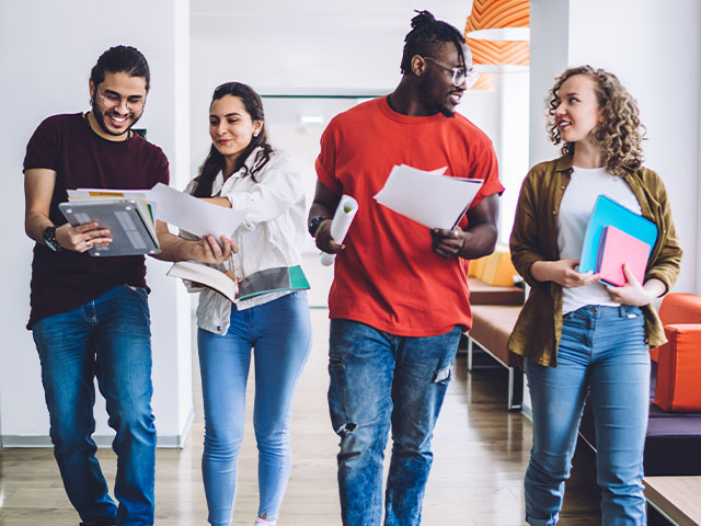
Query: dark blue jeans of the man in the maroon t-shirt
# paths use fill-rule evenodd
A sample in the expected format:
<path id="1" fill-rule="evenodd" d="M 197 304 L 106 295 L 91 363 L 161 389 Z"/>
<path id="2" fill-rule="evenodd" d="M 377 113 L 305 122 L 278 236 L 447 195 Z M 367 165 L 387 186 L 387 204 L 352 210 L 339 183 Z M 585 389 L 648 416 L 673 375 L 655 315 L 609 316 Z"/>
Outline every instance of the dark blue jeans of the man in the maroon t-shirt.
<path id="1" fill-rule="evenodd" d="M 153 524 L 156 428 L 151 413 L 151 333 L 147 291 L 127 285 L 32 325 L 42 362 L 54 455 L 82 521 L 116 516 Z M 97 377 L 116 431 L 115 505 L 95 457 Z"/>

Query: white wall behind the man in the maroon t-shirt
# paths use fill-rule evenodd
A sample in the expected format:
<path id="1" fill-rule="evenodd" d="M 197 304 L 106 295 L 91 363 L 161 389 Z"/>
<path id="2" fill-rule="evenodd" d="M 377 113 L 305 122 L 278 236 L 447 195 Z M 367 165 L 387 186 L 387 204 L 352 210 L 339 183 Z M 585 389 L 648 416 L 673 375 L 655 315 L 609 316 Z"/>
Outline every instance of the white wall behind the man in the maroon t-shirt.
<path id="1" fill-rule="evenodd" d="M 189 162 L 188 0 L 118 5 L 76 0 L 0 3 L 0 71 L 4 174 L 3 273 L 11 276 L 0 302 L 0 434 L 3 445 L 48 444 L 48 414 L 38 357 L 24 329 L 33 242 L 24 235 L 22 161 L 26 142 L 48 115 L 89 110 L 88 79 L 100 54 L 116 44 L 139 48 L 151 66 L 151 92 L 139 123 L 171 161 L 174 181 Z M 158 21 L 158 23 L 154 23 Z M 153 412 L 160 445 L 179 445 L 192 419 L 189 301 L 182 285 L 166 279 L 168 265 L 149 261 L 153 332 Z M 110 443 L 104 401 L 97 399 L 96 435 Z"/>

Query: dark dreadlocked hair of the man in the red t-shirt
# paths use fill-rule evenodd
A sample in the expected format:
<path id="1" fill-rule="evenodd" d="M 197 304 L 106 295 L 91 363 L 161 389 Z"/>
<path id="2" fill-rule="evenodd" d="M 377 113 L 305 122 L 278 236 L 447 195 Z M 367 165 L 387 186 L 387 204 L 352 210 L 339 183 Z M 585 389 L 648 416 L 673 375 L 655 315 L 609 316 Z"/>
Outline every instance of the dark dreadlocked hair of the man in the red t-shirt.
<path id="1" fill-rule="evenodd" d="M 462 34 L 448 22 L 436 20 L 428 11 L 416 11 L 418 14 L 412 19 L 412 31 L 404 37 L 404 53 L 400 69 L 402 75 L 409 75 L 412 70 L 412 57 L 414 55 L 433 56 L 434 52 L 447 42 L 452 42 L 458 48 L 460 60 L 466 62 L 462 46 L 466 44 Z"/>

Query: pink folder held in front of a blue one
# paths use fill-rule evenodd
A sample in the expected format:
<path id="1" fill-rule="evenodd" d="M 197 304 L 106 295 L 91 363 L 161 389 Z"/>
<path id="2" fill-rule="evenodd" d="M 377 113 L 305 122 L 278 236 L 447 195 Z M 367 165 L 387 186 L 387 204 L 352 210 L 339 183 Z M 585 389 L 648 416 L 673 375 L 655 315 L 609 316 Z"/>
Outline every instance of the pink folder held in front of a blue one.
<path id="1" fill-rule="evenodd" d="M 635 279 L 643 283 L 648 258 L 650 244 L 610 225 L 601 229 L 596 272 L 602 282 L 616 287 L 625 285 L 623 263 L 628 263 Z"/>

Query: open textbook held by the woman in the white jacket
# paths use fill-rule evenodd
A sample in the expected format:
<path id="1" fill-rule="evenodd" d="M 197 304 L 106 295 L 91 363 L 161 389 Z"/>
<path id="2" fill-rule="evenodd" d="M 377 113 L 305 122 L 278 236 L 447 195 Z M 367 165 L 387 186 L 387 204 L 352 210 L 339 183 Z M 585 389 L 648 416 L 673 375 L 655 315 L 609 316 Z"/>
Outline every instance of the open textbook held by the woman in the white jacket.
<path id="1" fill-rule="evenodd" d="M 179 261 L 173 263 L 168 275 L 214 288 L 234 304 L 266 293 L 309 289 L 309 282 L 299 265 L 265 268 L 237 283 L 212 266 L 194 261 Z"/>

